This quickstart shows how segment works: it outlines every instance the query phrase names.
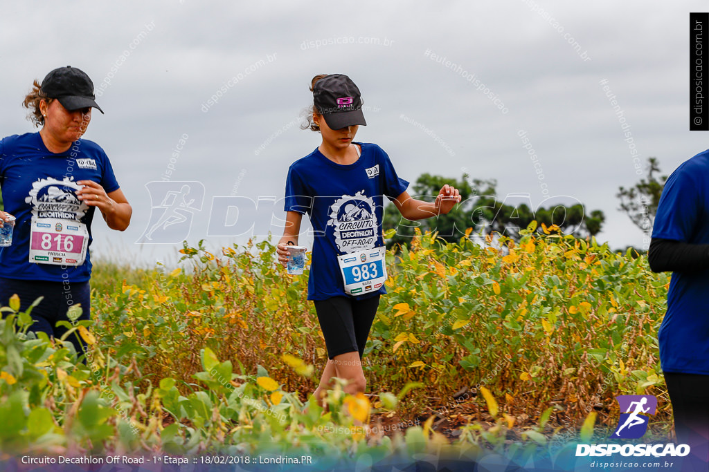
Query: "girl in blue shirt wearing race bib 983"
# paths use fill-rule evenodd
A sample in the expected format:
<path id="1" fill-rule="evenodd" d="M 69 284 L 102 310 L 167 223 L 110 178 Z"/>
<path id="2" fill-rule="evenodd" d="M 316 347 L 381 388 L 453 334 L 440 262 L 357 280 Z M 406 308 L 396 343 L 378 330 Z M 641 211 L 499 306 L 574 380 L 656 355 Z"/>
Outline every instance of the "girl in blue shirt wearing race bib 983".
<path id="1" fill-rule="evenodd" d="M 286 180 L 286 225 L 277 245 L 286 265 L 289 244 L 298 244 L 303 214 L 315 238 L 308 280 L 323 330 L 328 363 L 313 394 L 320 405 L 333 377 L 347 380 L 346 393 L 364 393 L 362 354 L 385 294 L 386 265 L 382 237 L 383 195 L 406 219 L 447 214 L 460 201 L 456 188 L 444 185 L 435 202 L 414 200 L 408 182 L 398 177 L 389 156 L 376 144 L 353 142 L 367 125 L 359 88 L 342 74 L 318 75 L 311 83 L 313 114 L 309 129 L 323 142 L 294 162 Z"/>

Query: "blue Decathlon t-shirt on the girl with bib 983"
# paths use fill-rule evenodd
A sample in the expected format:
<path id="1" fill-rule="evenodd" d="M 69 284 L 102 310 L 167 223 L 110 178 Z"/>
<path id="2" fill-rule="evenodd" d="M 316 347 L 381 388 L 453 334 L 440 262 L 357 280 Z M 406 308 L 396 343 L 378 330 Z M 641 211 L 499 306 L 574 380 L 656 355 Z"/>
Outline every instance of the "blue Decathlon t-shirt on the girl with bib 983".
<path id="1" fill-rule="evenodd" d="M 337 256 L 384 246 L 383 195 L 393 200 L 408 188 L 379 146 L 355 144 L 362 146 L 362 155 L 352 164 L 330 161 L 316 149 L 288 170 L 286 212 L 307 213 L 315 232 L 309 300 L 350 297 L 345 293 Z M 385 293 L 382 285 L 378 292 L 355 298 Z"/>

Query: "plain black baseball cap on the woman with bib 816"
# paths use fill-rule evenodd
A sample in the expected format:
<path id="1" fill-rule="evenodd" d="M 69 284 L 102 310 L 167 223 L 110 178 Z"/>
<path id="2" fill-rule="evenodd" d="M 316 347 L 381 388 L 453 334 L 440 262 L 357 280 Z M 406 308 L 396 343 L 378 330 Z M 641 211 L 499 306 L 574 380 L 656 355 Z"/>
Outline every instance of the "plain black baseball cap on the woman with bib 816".
<path id="1" fill-rule="evenodd" d="M 54 69 L 42 81 L 40 89 L 48 98 L 59 100 L 69 111 L 93 107 L 104 113 L 96 104 L 94 82 L 82 69 L 71 66 Z"/>

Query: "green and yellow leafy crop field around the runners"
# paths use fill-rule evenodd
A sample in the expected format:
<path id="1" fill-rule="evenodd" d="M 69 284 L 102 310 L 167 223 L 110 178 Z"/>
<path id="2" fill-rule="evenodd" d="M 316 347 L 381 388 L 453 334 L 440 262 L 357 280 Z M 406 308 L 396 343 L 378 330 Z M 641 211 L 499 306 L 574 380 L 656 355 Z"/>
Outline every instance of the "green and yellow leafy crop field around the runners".
<path id="1" fill-rule="evenodd" d="M 169 269 L 98 263 L 95 321 L 90 331 L 75 326 L 89 343 L 86 364 L 64 343 L 27 333 L 17 301 L 3 309 L 0 447 L 509 452 L 510 434 L 527 449 L 581 425 L 586 438 L 594 424 L 604 434 L 622 393 L 656 395 L 654 434 L 666 434 L 656 333 L 669 276 L 630 251 L 541 229 L 500 238 L 499 248 L 418 235 L 390 252 L 389 294 L 365 354 L 372 395 L 338 387 L 327 413 L 304 410 L 326 359 L 307 277 L 275 265 L 268 241 L 220 255 L 185 245 Z M 469 395 L 454 401 L 462 388 Z M 433 425 L 451 403 L 459 434 Z M 354 427 L 391 418 L 420 425 L 391 437 Z"/>

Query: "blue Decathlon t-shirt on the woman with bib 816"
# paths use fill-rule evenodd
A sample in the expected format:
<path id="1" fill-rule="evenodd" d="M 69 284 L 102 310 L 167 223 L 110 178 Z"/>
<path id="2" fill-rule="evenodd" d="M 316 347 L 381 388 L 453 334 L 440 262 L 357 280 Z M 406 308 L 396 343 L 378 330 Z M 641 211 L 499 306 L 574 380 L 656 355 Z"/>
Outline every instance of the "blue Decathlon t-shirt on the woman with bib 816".
<path id="1" fill-rule="evenodd" d="M 69 150 L 54 154 L 39 133 L 15 134 L 0 140 L 0 190 L 5 211 L 16 217 L 12 245 L 0 248 L 0 277 L 50 282 L 89 280 L 88 249 L 86 260 L 78 266 L 29 261 L 33 217 L 80 221 L 86 224 L 91 245 L 91 220 L 96 208 L 77 198 L 75 182 L 79 180 L 94 180 L 106 193 L 119 188 L 108 156 L 94 142 L 79 139 Z"/>

